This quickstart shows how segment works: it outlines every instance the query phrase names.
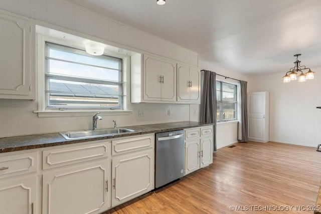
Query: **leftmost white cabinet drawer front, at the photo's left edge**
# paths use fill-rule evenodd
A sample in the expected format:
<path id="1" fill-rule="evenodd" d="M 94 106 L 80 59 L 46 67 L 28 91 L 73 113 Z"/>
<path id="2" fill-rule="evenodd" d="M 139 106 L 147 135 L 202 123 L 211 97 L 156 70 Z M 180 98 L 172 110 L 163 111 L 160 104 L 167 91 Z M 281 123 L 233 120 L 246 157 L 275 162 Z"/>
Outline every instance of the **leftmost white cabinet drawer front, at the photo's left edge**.
<path id="1" fill-rule="evenodd" d="M 9 177 L 36 171 L 37 157 L 37 152 L 0 157 L 0 177 Z"/>

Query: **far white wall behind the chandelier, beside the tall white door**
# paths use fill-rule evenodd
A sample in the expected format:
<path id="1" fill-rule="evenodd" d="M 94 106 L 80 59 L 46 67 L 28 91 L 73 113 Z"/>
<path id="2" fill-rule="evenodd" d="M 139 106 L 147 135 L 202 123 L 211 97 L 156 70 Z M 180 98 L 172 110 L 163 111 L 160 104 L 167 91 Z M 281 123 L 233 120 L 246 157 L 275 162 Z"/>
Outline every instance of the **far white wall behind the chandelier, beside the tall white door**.
<path id="1" fill-rule="evenodd" d="M 270 141 L 316 147 L 321 143 L 321 68 L 313 80 L 283 83 L 283 73 L 256 76 L 248 92 L 270 92 Z"/>

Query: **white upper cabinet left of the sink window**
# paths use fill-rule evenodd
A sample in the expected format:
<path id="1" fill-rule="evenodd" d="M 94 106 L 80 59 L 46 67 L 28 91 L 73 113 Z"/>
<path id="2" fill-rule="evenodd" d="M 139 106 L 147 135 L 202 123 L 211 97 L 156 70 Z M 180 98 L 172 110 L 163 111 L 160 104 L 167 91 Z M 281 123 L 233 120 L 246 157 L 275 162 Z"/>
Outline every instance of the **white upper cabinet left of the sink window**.
<path id="1" fill-rule="evenodd" d="M 0 11 L 0 98 L 35 99 L 35 24 Z"/>

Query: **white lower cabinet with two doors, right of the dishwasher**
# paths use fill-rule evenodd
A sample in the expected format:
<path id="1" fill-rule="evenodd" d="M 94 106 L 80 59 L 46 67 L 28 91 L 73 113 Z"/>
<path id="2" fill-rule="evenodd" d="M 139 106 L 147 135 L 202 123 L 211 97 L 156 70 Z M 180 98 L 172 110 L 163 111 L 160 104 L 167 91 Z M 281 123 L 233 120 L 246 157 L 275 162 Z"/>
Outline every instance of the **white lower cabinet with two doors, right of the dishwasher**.
<path id="1" fill-rule="evenodd" d="M 185 175 L 213 163 L 213 126 L 185 130 Z"/>

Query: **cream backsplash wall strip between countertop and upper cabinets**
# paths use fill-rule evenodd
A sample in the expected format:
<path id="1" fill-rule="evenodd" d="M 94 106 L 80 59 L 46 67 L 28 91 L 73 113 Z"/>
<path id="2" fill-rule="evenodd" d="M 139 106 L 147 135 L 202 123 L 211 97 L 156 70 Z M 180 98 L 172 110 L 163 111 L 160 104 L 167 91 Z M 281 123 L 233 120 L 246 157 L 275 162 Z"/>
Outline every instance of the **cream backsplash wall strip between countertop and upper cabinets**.
<path id="1" fill-rule="evenodd" d="M 189 120 L 189 105 L 132 104 L 131 107 L 133 111 L 128 115 L 101 112 L 103 119 L 97 122 L 97 127 L 113 127 L 112 120 L 117 120 L 119 127 Z M 38 114 L 33 113 L 37 109 L 37 101 L 0 99 L 0 137 L 92 128 L 93 115 L 38 118 Z M 171 109 L 171 116 L 167 115 L 167 109 Z M 138 117 L 138 110 L 143 110 L 144 117 Z"/>

